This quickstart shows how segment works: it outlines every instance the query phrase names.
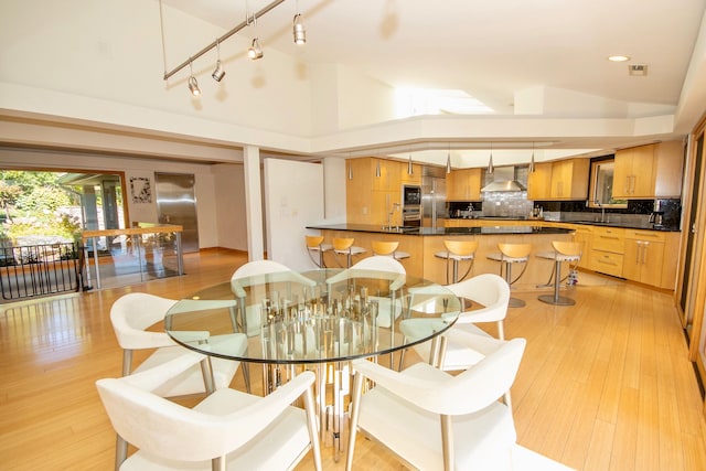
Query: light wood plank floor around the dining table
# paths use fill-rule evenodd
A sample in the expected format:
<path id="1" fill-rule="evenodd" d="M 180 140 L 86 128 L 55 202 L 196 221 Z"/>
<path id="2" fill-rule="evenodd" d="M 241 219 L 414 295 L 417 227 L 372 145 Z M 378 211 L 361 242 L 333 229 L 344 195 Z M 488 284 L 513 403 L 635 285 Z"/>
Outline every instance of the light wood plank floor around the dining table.
<path id="1" fill-rule="evenodd" d="M 186 296 L 244 261 L 189 255 L 181 278 L 0 306 L 0 469 L 111 469 L 115 435 L 94 383 L 120 374 L 113 301 L 129 291 Z M 505 323 L 507 338 L 528 342 L 512 389 L 518 442 L 579 470 L 706 469 L 703 399 L 671 296 L 586 274 L 574 307 L 536 296 L 517 293 L 527 307 Z M 404 469 L 382 447 L 357 443 L 356 469 Z M 330 448 L 323 458 L 343 469 Z"/>

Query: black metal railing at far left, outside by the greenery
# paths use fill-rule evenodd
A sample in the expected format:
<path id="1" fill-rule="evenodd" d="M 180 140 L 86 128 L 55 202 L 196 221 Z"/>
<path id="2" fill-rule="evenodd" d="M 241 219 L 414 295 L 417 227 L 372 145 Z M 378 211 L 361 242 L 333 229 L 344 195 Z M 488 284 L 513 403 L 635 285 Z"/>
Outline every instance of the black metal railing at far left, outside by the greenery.
<path id="1" fill-rule="evenodd" d="M 0 247 L 0 290 L 6 300 L 81 289 L 84 256 L 77 243 Z"/>

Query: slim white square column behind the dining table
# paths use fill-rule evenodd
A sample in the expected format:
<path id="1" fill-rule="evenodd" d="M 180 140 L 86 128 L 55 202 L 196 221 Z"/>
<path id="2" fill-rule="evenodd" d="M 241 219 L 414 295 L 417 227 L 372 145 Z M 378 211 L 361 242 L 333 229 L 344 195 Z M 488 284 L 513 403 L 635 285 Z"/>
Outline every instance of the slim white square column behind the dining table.
<path id="1" fill-rule="evenodd" d="M 260 149 L 245 146 L 243 149 L 245 170 L 245 214 L 247 224 L 248 260 L 265 258 L 263 237 L 263 190 L 260 186 Z"/>

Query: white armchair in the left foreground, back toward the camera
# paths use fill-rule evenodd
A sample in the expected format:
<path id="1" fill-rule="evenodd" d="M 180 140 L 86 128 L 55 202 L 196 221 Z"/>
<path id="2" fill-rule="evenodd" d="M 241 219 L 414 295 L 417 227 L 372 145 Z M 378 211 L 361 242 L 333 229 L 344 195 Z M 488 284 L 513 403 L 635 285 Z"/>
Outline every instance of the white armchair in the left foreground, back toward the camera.
<path id="1" fill-rule="evenodd" d="M 313 373 L 303 372 L 265 397 L 217 389 L 193 409 L 152 393 L 201 360 L 188 352 L 153 370 L 96 382 L 114 429 L 138 449 L 116 469 L 285 470 L 311 450 L 321 470 Z M 302 396 L 304 410 L 290 405 Z"/>

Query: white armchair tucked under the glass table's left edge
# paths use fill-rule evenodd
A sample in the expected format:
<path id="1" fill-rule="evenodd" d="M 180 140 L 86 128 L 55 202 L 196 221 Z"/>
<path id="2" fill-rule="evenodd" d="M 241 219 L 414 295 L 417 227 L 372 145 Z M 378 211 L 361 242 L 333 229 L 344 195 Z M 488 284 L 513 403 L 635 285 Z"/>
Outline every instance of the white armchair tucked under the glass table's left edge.
<path id="1" fill-rule="evenodd" d="M 200 301 L 193 301 L 194 303 Z M 122 376 L 151 370 L 184 354 L 188 350 L 169 338 L 164 332 L 147 329 L 164 319 L 167 311 L 176 301 L 143 292 L 131 292 L 118 298 L 110 307 L 110 323 L 122 349 Z M 234 301 L 203 301 L 204 309 L 214 307 L 235 307 Z M 217 306 L 216 306 L 217 304 Z M 193 306 L 192 306 L 193 307 Z M 196 308 L 193 307 L 195 310 Z M 247 339 L 244 334 L 211 336 L 208 332 L 193 332 L 194 342 L 231 343 L 234 352 L 245 352 Z M 153 350 L 140 365 L 132 368 L 132 352 L 136 350 Z M 239 362 L 224 358 L 203 358 L 201 365 L 194 364 L 189 370 L 173 375 L 169 381 L 154 389 L 154 394 L 163 397 L 189 394 L 212 393 L 213 389 L 231 385 Z M 249 375 L 243 368 L 243 377 L 249 390 Z M 213 384 L 211 379 L 213 378 Z M 119 437 L 116 442 L 116 462 L 127 456 L 127 443 Z"/>

